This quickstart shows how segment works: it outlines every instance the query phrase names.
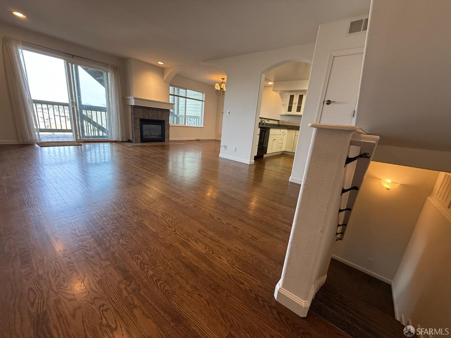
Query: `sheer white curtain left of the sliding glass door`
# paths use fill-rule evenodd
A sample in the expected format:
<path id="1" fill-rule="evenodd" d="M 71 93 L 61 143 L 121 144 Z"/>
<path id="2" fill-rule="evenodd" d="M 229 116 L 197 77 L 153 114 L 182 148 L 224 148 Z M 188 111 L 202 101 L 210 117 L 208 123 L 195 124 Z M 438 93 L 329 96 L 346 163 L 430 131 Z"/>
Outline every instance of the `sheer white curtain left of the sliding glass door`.
<path id="1" fill-rule="evenodd" d="M 3 59 L 6 80 L 13 108 L 19 142 L 40 140 L 33 101 L 28 88 L 27 72 L 22 54 L 22 43 L 10 37 L 3 38 Z"/>

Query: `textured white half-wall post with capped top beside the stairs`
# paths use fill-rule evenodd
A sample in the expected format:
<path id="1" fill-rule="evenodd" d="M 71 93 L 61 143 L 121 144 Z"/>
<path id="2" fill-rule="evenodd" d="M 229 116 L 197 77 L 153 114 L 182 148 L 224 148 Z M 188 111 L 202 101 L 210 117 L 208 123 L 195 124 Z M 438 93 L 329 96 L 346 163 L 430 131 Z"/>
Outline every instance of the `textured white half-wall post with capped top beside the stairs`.
<path id="1" fill-rule="evenodd" d="M 356 126 L 314 128 L 282 276 L 274 296 L 301 317 L 326 280 L 336 240 L 345 160 Z M 347 187 L 345 187 L 347 188 Z"/>

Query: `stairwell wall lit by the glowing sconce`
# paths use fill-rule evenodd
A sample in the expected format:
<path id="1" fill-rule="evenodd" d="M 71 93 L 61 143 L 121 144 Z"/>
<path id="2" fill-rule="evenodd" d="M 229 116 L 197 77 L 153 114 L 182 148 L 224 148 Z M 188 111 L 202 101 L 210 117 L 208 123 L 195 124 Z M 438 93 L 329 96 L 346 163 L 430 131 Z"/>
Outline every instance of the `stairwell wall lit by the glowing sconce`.
<path id="1" fill-rule="evenodd" d="M 372 161 L 345 237 L 335 244 L 334 258 L 390 283 L 437 175 L 437 171 Z M 387 190 L 382 179 L 401 184 Z"/>

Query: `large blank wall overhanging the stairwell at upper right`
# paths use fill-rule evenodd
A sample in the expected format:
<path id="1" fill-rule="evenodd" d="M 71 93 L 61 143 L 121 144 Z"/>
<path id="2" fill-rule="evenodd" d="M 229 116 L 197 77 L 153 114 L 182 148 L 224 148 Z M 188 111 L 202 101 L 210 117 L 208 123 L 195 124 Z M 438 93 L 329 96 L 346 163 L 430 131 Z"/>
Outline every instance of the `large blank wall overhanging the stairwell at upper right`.
<path id="1" fill-rule="evenodd" d="M 378 160 L 451 171 L 450 17 L 449 0 L 373 0 L 356 125 Z"/>

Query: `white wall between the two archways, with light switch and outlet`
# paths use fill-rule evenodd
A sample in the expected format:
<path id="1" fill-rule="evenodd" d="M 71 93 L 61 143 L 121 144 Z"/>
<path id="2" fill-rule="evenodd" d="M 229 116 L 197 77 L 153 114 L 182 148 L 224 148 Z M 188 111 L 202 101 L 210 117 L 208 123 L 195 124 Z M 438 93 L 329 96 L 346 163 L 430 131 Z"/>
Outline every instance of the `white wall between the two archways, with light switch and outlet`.
<path id="1" fill-rule="evenodd" d="M 262 73 L 287 60 L 310 63 L 313 47 L 314 44 L 309 43 L 209 61 L 227 74 L 221 136 L 221 143 L 226 144 L 227 149 L 221 148 L 221 157 L 253 163 L 252 141 L 258 128 L 256 122 L 264 81 Z M 230 110 L 230 115 L 226 115 L 227 110 Z M 236 146 L 236 151 L 233 151 L 233 146 Z"/>

